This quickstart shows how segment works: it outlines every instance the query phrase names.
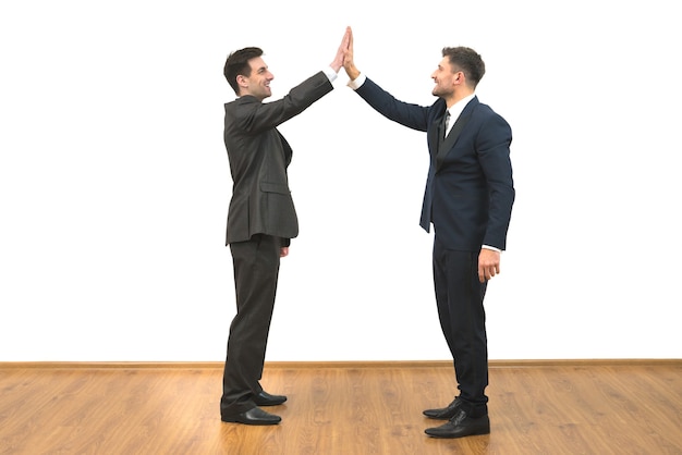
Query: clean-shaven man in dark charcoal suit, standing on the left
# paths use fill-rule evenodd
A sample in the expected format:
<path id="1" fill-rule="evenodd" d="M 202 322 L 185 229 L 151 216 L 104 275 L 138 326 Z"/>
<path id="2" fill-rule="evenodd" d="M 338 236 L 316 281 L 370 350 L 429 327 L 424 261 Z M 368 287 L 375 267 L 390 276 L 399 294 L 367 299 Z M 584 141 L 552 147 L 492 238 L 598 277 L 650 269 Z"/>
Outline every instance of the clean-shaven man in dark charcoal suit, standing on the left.
<path id="1" fill-rule="evenodd" d="M 273 76 L 260 49 L 232 52 L 224 65 L 224 76 L 238 96 L 224 106 L 224 144 L 233 181 L 226 244 L 232 253 L 236 295 L 220 399 L 226 422 L 281 420 L 260 406 L 280 405 L 287 397 L 270 395 L 259 383 L 280 258 L 289 254 L 290 239 L 299 234 L 287 175 L 292 150 L 277 126 L 333 89 L 331 82 L 343 65 L 349 38 L 346 30 L 329 69 L 272 102 L 263 102 L 271 96 Z"/>

